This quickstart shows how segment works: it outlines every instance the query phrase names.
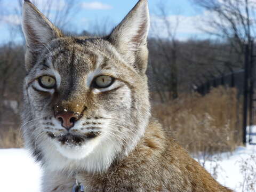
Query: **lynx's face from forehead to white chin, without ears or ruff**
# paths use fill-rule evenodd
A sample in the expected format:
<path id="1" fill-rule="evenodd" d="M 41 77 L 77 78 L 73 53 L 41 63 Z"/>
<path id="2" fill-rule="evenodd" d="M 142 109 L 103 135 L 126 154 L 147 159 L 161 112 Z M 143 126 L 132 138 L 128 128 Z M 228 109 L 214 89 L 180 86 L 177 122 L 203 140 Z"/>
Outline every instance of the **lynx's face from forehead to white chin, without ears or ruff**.
<path id="1" fill-rule="evenodd" d="M 90 50 L 94 42 L 68 40 L 62 39 L 56 47 L 49 45 L 51 50 L 41 55 L 26 79 L 27 91 L 42 134 L 62 155 L 83 158 L 101 140 L 123 144 L 129 141 L 128 135 L 134 137 L 138 130 L 133 130 L 131 114 L 135 106 L 129 86 L 133 85 L 132 78 L 125 77 L 116 65 L 118 58 L 100 50 L 95 53 L 96 47 Z"/>

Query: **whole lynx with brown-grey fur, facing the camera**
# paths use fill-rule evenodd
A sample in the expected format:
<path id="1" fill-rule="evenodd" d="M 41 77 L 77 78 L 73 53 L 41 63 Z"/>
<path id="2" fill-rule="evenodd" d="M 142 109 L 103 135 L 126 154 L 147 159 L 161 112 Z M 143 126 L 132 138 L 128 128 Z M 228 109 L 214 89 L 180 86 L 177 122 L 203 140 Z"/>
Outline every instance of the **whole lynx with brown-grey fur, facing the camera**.
<path id="1" fill-rule="evenodd" d="M 25 0 L 22 29 L 23 132 L 43 192 L 231 191 L 150 115 L 147 0 L 104 37 L 65 36 Z"/>

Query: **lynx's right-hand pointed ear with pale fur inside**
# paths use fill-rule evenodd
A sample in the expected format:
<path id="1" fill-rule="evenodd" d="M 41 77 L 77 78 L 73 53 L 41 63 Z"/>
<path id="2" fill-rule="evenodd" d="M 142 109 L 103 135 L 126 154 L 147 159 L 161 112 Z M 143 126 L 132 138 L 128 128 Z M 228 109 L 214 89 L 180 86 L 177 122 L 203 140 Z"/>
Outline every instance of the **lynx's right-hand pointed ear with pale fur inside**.
<path id="1" fill-rule="evenodd" d="M 140 0 L 109 36 L 109 41 L 133 67 L 143 72 L 147 68 L 149 25 L 148 2 Z"/>

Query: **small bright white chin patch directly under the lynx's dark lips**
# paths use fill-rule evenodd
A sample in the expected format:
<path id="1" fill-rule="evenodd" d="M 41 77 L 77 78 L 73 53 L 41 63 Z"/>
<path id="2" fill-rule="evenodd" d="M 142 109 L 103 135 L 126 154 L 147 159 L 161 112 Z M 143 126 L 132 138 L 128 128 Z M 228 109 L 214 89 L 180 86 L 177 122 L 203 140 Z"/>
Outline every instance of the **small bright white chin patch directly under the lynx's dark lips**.
<path id="1" fill-rule="evenodd" d="M 61 155 L 70 159 L 82 159 L 92 153 L 93 149 L 99 144 L 99 141 L 99 138 L 94 138 L 85 141 L 81 146 L 62 145 L 58 141 L 55 141 L 54 144 Z"/>

